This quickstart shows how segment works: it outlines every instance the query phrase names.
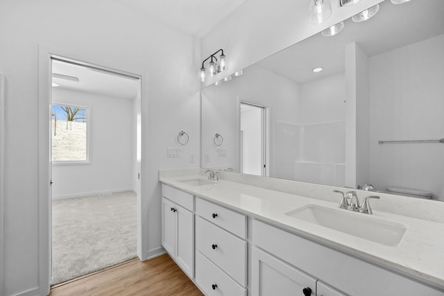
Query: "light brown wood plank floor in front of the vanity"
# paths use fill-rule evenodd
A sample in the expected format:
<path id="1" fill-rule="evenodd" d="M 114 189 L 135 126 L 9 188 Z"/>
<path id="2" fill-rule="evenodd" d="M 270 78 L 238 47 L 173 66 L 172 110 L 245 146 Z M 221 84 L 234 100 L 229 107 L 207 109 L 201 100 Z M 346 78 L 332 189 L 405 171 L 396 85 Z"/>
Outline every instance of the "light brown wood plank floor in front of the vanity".
<path id="1" fill-rule="evenodd" d="M 141 262 L 128 261 L 67 284 L 54 286 L 50 296 L 65 295 L 203 295 L 168 254 Z"/>

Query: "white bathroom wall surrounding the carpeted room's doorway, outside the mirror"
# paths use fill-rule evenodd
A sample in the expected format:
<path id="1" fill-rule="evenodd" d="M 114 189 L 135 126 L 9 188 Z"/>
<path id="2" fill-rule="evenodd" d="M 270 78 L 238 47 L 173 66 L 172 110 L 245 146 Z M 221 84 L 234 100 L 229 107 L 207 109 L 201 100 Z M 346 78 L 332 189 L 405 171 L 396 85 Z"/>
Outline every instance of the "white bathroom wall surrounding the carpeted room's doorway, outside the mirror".
<path id="1" fill-rule="evenodd" d="M 0 27 L 0 71 L 7 82 L 4 295 L 46 289 L 39 286 L 38 261 L 39 43 L 148 78 L 142 81 L 142 231 L 148 237 L 142 251 L 162 250 L 158 169 L 199 166 L 188 157 L 199 153 L 196 39 L 105 0 L 3 0 Z M 183 157 L 167 159 L 180 130 L 190 136 Z"/>

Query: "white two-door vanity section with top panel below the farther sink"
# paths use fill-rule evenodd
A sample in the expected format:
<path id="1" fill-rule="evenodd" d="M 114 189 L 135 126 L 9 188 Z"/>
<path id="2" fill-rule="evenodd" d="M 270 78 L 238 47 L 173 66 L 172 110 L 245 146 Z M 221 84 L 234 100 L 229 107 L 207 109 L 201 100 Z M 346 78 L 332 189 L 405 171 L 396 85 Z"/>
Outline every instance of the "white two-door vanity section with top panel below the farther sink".
<path id="1" fill-rule="evenodd" d="M 194 277 L 194 197 L 162 185 L 162 246 Z"/>

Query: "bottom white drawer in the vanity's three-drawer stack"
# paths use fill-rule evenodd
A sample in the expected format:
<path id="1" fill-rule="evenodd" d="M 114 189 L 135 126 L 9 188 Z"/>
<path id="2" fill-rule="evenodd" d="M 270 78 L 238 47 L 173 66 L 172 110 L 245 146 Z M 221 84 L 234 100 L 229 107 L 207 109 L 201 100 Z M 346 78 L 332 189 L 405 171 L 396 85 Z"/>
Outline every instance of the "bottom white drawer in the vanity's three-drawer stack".
<path id="1" fill-rule="evenodd" d="M 196 283 L 205 295 L 246 296 L 247 290 L 239 286 L 214 263 L 196 251 Z M 214 288 L 213 288 L 213 285 Z M 216 287 L 217 285 L 217 287 Z"/>

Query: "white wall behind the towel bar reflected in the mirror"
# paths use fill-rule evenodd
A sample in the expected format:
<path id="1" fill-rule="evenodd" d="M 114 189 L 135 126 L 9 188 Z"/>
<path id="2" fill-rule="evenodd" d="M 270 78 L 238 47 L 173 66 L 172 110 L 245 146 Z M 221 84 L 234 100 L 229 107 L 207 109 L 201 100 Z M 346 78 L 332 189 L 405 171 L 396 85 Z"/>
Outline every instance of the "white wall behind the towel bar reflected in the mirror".
<path id="1" fill-rule="evenodd" d="M 444 35 L 369 59 L 370 182 L 444 200 L 443 144 L 378 144 L 443 138 Z M 390 180 L 390 182 L 386 181 Z"/>

